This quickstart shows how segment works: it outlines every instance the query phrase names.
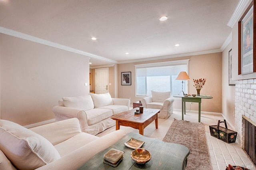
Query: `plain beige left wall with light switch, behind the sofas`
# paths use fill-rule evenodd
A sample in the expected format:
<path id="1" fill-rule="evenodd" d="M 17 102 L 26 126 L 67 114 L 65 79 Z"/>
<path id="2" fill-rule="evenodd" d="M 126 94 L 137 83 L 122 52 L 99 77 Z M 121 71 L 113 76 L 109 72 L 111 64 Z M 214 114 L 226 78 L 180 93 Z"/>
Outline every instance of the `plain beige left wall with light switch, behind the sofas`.
<path id="1" fill-rule="evenodd" d="M 87 56 L 4 34 L 0 51 L 1 119 L 20 125 L 54 119 L 59 99 L 89 93 Z"/>

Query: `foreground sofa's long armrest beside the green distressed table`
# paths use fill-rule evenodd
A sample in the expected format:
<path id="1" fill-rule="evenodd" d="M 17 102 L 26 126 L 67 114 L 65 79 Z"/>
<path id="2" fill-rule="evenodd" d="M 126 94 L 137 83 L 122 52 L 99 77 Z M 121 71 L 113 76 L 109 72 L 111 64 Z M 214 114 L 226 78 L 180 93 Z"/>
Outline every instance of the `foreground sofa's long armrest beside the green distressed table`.
<path id="1" fill-rule="evenodd" d="M 50 162 L 37 170 L 74 170 L 80 168 L 98 152 L 112 146 L 122 139 L 127 133 L 124 130 L 116 130 L 102 136 L 62 158 Z"/>

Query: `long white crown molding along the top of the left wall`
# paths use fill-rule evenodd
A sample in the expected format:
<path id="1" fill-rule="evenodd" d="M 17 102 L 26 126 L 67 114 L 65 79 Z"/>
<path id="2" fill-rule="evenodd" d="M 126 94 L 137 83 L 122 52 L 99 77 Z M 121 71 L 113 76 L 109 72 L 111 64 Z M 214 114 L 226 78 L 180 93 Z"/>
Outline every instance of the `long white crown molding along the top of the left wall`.
<path id="1" fill-rule="evenodd" d="M 88 53 L 86 51 L 82 51 L 82 50 L 75 49 L 75 48 L 72 48 L 72 47 L 68 47 L 68 46 L 65 46 L 65 45 L 61 45 L 61 44 L 58 44 L 58 43 L 50 42 L 48 40 L 44 40 L 44 39 L 41 39 L 41 38 L 30 36 L 28 34 L 17 32 L 17 31 L 14 31 L 14 30 L 10 30 L 10 29 L 4 28 L 4 27 L 0 27 L 0 33 L 6 34 L 6 35 L 9 35 L 9 36 L 14 36 L 14 37 L 17 37 L 17 38 L 21 38 L 21 39 L 24 39 L 24 40 L 28 40 L 28 41 L 32 41 L 32 42 L 36 42 L 36 43 L 40 43 L 40 44 L 44 44 L 44 45 L 48 45 L 50 47 L 63 49 L 63 50 L 70 51 L 70 52 L 73 52 L 73 53 L 86 55 L 86 56 L 92 57 L 94 59 L 99 59 L 99 60 L 102 60 L 102 61 L 108 61 L 108 62 L 111 62 L 111 63 L 117 63 L 117 61 L 112 60 L 112 59 L 101 57 L 99 55 L 94 55 L 92 53 Z"/>

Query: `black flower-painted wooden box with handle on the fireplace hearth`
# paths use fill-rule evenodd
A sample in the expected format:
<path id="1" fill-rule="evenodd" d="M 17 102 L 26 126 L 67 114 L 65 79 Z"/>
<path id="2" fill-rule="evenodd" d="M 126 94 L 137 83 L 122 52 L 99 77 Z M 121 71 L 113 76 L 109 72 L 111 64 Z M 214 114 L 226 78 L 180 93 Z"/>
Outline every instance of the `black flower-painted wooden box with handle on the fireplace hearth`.
<path id="1" fill-rule="evenodd" d="M 220 123 L 225 123 L 226 128 L 220 127 Z M 210 128 L 211 136 L 214 136 L 227 143 L 236 142 L 237 132 L 228 129 L 226 120 L 224 120 L 223 122 L 219 120 L 218 125 L 212 125 L 212 126 L 209 126 L 209 128 Z"/>

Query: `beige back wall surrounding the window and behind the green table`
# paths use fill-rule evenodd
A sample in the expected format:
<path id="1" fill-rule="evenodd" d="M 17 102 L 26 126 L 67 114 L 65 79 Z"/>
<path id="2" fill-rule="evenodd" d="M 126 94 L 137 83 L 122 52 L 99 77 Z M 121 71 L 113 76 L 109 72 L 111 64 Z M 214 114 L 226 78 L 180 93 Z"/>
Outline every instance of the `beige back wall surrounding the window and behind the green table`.
<path id="1" fill-rule="evenodd" d="M 196 94 L 196 89 L 193 87 L 192 79 L 206 78 L 206 83 L 201 90 L 202 95 L 212 95 L 213 99 L 202 99 L 201 110 L 208 112 L 222 112 L 222 53 L 211 53 L 204 55 L 193 55 L 188 57 L 178 57 L 170 59 L 162 59 L 155 61 L 145 61 L 137 63 L 124 63 L 118 65 L 118 75 L 121 72 L 131 71 L 132 85 L 121 85 L 121 77 L 118 76 L 118 97 L 131 99 L 131 103 L 140 100 L 135 97 L 135 64 L 154 63 L 163 61 L 175 61 L 181 59 L 190 59 L 189 61 L 189 89 L 190 94 Z M 173 94 L 174 95 L 174 94 Z M 174 103 L 175 109 L 181 109 L 181 100 L 176 99 Z M 198 110 L 198 103 L 193 103 L 192 110 Z"/>

